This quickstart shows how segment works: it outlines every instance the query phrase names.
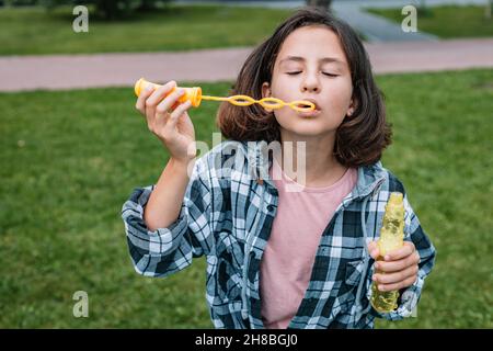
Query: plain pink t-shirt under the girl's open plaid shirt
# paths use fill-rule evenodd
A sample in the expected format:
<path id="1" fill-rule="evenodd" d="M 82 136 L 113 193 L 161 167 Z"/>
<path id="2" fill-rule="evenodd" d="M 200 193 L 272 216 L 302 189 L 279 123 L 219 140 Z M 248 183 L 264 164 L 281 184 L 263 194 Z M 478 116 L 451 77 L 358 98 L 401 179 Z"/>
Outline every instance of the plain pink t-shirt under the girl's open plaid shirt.
<path id="1" fill-rule="evenodd" d="M 357 182 L 357 169 L 348 168 L 334 184 L 300 186 L 274 158 L 270 170 L 278 193 L 277 213 L 261 261 L 262 319 L 266 328 L 287 328 L 298 312 L 314 263 L 323 230 L 342 200 Z"/>

